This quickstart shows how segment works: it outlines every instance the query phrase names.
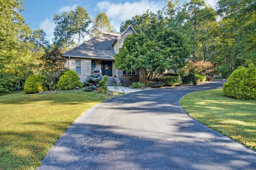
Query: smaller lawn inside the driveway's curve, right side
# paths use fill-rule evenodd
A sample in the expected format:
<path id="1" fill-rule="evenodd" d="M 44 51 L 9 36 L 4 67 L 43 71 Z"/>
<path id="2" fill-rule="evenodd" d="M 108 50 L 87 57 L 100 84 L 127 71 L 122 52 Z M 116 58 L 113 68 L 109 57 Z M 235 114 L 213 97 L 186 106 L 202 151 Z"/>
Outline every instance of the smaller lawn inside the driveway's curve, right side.
<path id="1" fill-rule="evenodd" d="M 256 101 L 222 95 L 222 89 L 189 93 L 180 99 L 194 119 L 229 138 L 256 150 Z"/>

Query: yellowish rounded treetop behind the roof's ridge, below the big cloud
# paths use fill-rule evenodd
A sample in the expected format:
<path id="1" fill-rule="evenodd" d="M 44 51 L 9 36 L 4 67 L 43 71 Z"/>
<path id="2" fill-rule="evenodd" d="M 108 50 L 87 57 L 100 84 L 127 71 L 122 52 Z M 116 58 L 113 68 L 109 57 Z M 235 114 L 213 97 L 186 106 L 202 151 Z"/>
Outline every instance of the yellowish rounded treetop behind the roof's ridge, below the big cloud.
<path id="1" fill-rule="evenodd" d="M 111 26 L 110 20 L 105 12 L 100 12 L 92 22 L 90 38 L 100 35 L 102 32 L 114 32 L 114 27 Z"/>

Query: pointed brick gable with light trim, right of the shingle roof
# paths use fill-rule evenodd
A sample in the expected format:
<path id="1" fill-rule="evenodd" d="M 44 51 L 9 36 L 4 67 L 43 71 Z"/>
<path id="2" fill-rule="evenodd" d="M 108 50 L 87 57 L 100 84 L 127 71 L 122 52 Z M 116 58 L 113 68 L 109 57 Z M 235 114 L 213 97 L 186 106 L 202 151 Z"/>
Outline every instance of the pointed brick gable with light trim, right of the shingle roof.
<path id="1" fill-rule="evenodd" d="M 124 30 L 124 32 L 122 32 L 118 38 L 116 38 L 116 40 L 113 42 L 112 47 L 114 47 L 115 53 L 119 52 L 119 49 L 123 46 L 124 43 L 124 39 L 132 34 L 134 32 L 134 29 L 132 28 L 132 26 L 128 26 L 128 28 L 126 28 L 126 30 Z"/>

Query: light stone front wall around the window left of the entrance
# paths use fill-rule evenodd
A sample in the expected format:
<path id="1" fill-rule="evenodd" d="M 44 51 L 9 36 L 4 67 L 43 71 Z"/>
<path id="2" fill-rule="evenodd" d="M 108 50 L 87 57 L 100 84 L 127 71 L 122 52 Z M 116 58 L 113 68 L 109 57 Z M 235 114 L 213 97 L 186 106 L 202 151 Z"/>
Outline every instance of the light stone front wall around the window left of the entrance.
<path id="1" fill-rule="evenodd" d="M 78 74 L 80 81 L 84 81 L 88 75 L 91 74 L 91 59 L 86 58 L 70 58 L 70 69 L 76 71 L 76 60 L 81 61 L 81 74 Z M 65 67 L 68 68 L 68 59 L 65 63 Z"/>

